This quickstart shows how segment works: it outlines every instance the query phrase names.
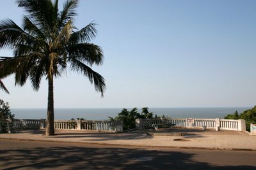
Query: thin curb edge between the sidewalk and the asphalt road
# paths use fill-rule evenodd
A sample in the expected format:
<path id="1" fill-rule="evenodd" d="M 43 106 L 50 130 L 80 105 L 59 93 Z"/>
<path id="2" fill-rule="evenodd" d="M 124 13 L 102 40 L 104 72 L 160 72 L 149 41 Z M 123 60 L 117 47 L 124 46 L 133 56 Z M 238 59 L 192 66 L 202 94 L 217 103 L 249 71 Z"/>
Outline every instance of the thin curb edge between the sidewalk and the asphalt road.
<path id="1" fill-rule="evenodd" d="M 54 140 L 40 140 L 40 139 L 18 139 L 18 138 L 0 138 L 4 141 L 33 141 L 33 142 L 52 142 L 52 143 L 74 143 L 74 144 L 90 144 L 90 145 L 102 145 L 102 146 L 120 146 L 120 147 L 132 147 L 132 148 L 180 148 L 190 150 L 230 150 L 230 151 L 250 151 L 256 152 L 255 149 L 250 148 L 217 148 L 217 147 L 193 147 L 193 146 L 145 146 L 145 145 L 128 145 L 128 144 L 108 144 L 108 143 L 91 143 L 91 142 L 72 142 L 72 141 L 54 141 Z"/>

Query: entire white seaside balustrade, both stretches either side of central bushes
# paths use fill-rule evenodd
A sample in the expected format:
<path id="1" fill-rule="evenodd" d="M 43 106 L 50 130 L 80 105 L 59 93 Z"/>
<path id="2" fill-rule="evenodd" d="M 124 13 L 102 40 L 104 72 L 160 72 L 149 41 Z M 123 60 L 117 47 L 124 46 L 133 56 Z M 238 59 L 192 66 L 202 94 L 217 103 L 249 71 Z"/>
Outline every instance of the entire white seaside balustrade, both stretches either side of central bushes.
<path id="1" fill-rule="evenodd" d="M 191 121 L 192 122 L 188 122 Z M 46 120 L 14 119 L 13 126 L 17 129 L 44 129 Z M 206 127 L 221 130 L 245 131 L 244 120 L 230 120 L 220 118 L 139 118 L 136 119 L 136 128 L 149 128 L 153 124 L 175 124 L 176 127 Z M 54 128 L 60 130 L 79 130 L 97 132 L 122 132 L 122 121 L 96 120 L 55 120 Z"/>

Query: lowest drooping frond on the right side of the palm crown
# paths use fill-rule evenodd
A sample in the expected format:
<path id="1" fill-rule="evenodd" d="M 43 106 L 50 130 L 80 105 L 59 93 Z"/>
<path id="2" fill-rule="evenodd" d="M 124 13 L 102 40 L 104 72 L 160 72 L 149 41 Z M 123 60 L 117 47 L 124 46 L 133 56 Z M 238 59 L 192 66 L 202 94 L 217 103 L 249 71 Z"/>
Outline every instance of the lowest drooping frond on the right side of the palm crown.
<path id="1" fill-rule="evenodd" d="M 76 71 L 77 73 L 82 73 L 84 76 L 87 76 L 90 82 L 94 85 L 95 90 L 100 92 L 102 97 L 104 96 L 106 84 L 104 78 L 99 73 L 93 71 L 93 69 L 76 59 L 71 60 L 70 68 L 72 71 Z"/>

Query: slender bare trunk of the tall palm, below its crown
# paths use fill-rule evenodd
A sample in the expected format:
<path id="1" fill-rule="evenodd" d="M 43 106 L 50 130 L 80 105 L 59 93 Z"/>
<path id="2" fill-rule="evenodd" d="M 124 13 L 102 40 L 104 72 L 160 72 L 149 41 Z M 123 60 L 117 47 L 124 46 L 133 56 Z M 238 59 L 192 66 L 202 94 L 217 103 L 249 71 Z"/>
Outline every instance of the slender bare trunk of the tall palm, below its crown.
<path id="1" fill-rule="evenodd" d="M 54 136 L 54 100 L 53 100 L 53 78 L 48 78 L 48 106 L 46 136 Z"/>

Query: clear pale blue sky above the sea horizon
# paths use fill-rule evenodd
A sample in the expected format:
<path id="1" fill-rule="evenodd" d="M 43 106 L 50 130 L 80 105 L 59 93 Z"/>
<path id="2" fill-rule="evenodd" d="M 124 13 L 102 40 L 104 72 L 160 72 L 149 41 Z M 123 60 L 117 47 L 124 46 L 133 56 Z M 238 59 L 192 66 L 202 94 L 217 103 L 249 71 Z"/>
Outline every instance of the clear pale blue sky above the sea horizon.
<path id="1" fill-rule="evenodd" d="M 59 2 L 61 8 L 64 1 Z M 88 78 L 69 69 L 54 80 L 55 108 L 252 107 L 256 105 L 256 1 L 81 0 L 76 27 L 97 25 L 106 79 L 101 97 Z M 0 20 L 21 25 L 24 11 L 0 1 Z M 12 56 L 0 50 L 0 56 Z M 28 80 L 0 99 L 11 108 L 47 108 L 47 81 Z"/>

